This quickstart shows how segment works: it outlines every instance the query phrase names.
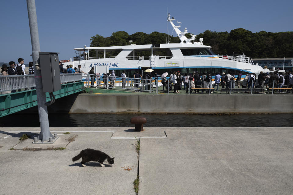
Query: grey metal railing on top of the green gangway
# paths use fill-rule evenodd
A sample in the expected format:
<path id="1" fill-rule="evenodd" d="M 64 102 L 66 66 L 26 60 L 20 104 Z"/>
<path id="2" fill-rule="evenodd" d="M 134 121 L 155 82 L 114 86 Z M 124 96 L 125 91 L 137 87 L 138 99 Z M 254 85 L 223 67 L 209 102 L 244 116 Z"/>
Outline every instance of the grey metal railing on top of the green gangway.
<path id="1" fill-rule="evenodd" d="M 82 74 L 60 74 L 61 83 L 81 81 Z M 0 92 L 36 87 L 34 75 L 0 76 Z"/>

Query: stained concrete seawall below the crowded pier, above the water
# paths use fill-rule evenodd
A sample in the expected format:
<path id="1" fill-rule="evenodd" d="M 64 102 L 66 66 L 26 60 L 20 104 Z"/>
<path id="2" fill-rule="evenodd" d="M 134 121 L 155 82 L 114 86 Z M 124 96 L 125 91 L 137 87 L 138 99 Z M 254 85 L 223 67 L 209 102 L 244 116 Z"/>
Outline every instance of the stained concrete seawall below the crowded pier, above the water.
<path id="1" fill-rule="evenodd" d="M 293 113 L 292 95 L 79 94 L 69 113 Z"/>

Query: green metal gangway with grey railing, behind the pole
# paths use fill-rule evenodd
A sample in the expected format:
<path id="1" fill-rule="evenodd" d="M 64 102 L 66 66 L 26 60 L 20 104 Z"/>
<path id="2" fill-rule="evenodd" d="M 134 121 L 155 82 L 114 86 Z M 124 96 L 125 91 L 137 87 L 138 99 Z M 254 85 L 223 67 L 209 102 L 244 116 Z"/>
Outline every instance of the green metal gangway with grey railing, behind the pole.
<path id="1" fill-rule="evenodd" d="M 0 76 L 0 117 L 38 105 L 33 76 Z M 82 74 L 60 74 L 60 78 L 63 83 L 61 89 L 53 92 L 56 99 L 84 90 Z M 46 93 L 46 98 L 47 102 L 50 101 L 49 93 Z"/>

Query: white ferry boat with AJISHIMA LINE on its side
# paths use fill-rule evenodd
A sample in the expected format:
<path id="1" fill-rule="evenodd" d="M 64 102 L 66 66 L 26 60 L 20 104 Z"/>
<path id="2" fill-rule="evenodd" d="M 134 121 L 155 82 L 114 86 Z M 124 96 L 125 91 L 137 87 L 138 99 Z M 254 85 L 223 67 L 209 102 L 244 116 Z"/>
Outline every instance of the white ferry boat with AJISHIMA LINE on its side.
<path id="1" fill-rule="evenodd" d="M 180 71 L 181 73 L 192 73 L 198 71 L 200 73 L 210 72 L 212 76 L 215 73 L 236 73 L 238 71 L 250 72 L 258 74 L 264 69 L 261 66 L 254 65 L 251 58 L 245 55 L 215 55 L 210 46 L 203 45 L 203 38 L 200 42 L 195 42 L 196 35 L 192 38 L 185 36 L 187 29 L 183 32 L 179 30 L 179 26 L 173 23 L 174 17 L 170 18 L 168 14 L 168 22 L 171 23 L 174 31 L 180 39 L 180 43 L 166 44 L 147 44 L 112 46 L 112 47 L 87 47 L 74 48 L 78 51 L 74 60 L 63 63 L 72 64 L 74 67 L 81 65 L 81 69 L 88 73 L 94 67 L 95 73 L 100 75 L 109 73 L 114 70 L 116 76 L 120 76 L 122 70 L 125 70 L 127 77 L 133 77 L 138 71 L 143 74 L 145 69 L 151 68 L 159 75 L 171 71 Z M 96 51 L 96 56 L 89 56 L 89 51 Z M 162 56 L 163 54 L 163 56 Z"/>

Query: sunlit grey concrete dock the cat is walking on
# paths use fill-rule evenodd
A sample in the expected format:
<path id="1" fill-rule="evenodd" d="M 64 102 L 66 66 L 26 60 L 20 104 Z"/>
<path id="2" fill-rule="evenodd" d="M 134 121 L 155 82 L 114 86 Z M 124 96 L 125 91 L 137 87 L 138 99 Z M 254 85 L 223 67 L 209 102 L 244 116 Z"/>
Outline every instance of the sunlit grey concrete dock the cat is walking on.
<path id="1" fill-rule="evenodd" d="M 293 194 L 293 128 L 50 129 L 54 144 L 32 144 L 39 128 L 0 128 L 0 194 L 136 194 L 138 168 L 138 194 Z M 86 148 L 114 165 L 71 160 Z"/>

